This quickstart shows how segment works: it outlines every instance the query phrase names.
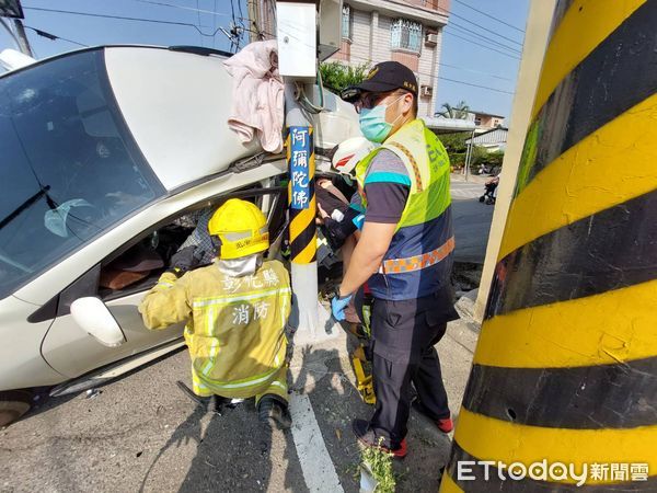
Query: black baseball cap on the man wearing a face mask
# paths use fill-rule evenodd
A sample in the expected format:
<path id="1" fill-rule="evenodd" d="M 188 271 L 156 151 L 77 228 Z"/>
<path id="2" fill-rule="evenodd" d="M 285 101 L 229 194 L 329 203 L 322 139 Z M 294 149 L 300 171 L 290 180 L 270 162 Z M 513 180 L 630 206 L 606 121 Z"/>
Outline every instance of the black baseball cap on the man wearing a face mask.
<path id="1" fill-rule="evenodd" d="M 417 79 L 413 71 L 399 61 L 382 61 L 372 67 L 364 81 L 345 89 L 342 99 L 354 102 L 364 92 L 389 92 L 403 89 L 417 95 Z"/>

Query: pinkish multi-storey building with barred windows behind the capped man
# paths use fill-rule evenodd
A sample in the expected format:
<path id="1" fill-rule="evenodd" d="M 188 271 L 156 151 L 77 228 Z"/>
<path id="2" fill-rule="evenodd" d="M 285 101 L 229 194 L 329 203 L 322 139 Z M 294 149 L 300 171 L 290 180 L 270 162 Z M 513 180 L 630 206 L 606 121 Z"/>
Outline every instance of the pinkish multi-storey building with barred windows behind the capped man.
<path id="1" fill-rule="evenodd" d="M 418 116 L 433 116 L 448 12 L 449 0 L 344 0 L 342 46 L 327 61 L 404 64 L 419 84 Z"/>

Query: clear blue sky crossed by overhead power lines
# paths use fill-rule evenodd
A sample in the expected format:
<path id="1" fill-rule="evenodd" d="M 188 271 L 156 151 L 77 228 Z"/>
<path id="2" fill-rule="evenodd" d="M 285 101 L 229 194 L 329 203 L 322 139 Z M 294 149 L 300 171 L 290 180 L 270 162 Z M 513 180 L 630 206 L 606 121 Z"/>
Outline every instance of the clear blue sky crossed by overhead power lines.
<path id="1" fill-rule="evenodd" d="M 175 7 L 164 5 L 166 3 Z M 22 4 L 26 26 L 90 46 L 103 44 L 196 45 L 230 50 L 230 41 L 221 31 L 217 32 L 217 27 L 224 27 L 227 31 L 230 28 L 233 19 L 231 4 L 237 22 L 240 22 L 241 16 L 247 15 L 246 0 L 232 0 L 232 2 L 231 0 L 23 0 Z M 240 7 L 242 8 L 241 13 Z M 30 8 L 141 18 L 181 24 L 92 18 L 44 12 Z M 476 12 L 472 8 L 484 13 Z M 449 22 L 452 25 L 448 25 L 443 31 L 440 58 L 442 65 L 439 67 L 440 79 L 436 88 L 438 108 L 445 102 L 454 105 L 460 101 L 465 101 L 472 110 L 499 114 L 508 118 L 512 103 L 512 94 L 509 93 L 512 93 L 516 87 L 520 55 L 493 44 L 491 39 L 518 51 L 521 50 L 525 35 L 522 31 L 525 31 L 528 9 L 529 0 L 450 1 L 450 11 L 453 15 L 450 16 Z M 493 18 L 497 18 L 510 26 Z M 483 46 L 469 43 L 463 37 Z M 32 30 L 27 30 L 27 38 L 37 58 L 80 47 L 61 39 L 46 39 L 37 36 Z M 242 46 L 246 42 L 245 34 Z M 13 47 L 12 45 L 13 42 L 9 35 L 4 30 L 0 30 L 0 48 Z M 494 47 L 507 55 L 487 49 L 486 46 Z"/>

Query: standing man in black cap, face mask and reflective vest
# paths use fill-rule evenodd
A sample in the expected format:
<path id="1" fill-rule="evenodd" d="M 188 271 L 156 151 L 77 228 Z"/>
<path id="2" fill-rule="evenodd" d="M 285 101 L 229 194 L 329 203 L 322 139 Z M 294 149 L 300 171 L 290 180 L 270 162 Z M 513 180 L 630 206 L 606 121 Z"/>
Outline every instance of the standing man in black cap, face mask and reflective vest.
<path id="1" fill-rule="evenodd" d="M 343 320 L 358 287 L 368 283 L 374 298 L 377 405 L 369 422 L 355 420 L 353 428 L 365 445 L 404 457 L 415 392 L 414 405 L 442 432 L 452 429 L 434 348 L 447 322 L 458 318 L 450 285 L 454 238 L 449 159 L 417 118 L 417 81 L 407 67 L 378 64 L 345 99 L 359 112 L 365 137 L 381 146 L 357 167 L 365 223 L 332 311 Z"/>

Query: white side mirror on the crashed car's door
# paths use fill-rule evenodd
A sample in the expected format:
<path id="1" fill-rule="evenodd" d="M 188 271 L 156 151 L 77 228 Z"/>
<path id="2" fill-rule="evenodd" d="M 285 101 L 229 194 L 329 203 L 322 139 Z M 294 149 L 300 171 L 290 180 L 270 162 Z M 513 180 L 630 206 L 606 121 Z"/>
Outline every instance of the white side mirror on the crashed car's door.
<path id="1" fill-rule="evenodd" d="M 126 342 L 116 319 L 99 298 L 74 300 L 71 303 L 71 317 L 83 331 L 105 346 L 116 347 Z"/>

